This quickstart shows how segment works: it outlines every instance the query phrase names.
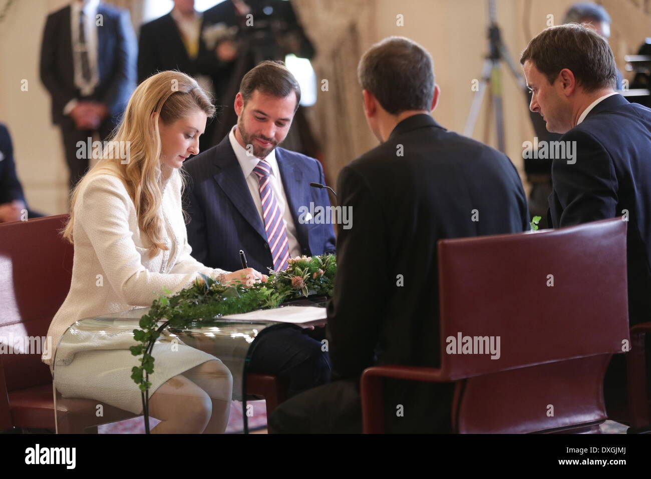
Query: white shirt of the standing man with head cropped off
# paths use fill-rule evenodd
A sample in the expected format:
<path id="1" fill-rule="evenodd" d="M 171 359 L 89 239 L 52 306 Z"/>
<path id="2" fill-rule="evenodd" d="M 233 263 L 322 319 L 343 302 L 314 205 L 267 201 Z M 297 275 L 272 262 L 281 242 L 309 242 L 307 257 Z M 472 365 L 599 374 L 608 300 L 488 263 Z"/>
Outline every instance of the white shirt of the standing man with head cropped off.
<path id="1" fill-rule="evenodd" d="M 97 68 L 97 25 L 96 15 L 100 0 L 88 0 L 85 3 L 73 1 L 70 4 L 70 32 L 72 36 L 72 64 L 74 67 L 75 86 L 81 95 L 92 94 L 95 87 L 100 83 L 100 72 Z M 90 81 L 86 81 L 81 72 L 81 45 L 79 44 L 79 12 L 85 14 L 85 39 L 88 51 L 88 62 L 90 67 Z M 77 99 L 70 100 L 63 109 L 64 115 L 68 115 L 77 104 Z"/>

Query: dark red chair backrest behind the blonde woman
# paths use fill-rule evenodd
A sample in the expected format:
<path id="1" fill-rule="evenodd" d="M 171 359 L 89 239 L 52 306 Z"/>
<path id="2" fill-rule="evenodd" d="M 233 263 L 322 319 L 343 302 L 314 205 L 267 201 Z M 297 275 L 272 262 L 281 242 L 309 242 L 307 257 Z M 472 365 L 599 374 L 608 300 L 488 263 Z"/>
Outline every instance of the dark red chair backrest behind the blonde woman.
<path id="1" fill-rule="evenodd" d="M 67 220 L 56 215 L 0 225 L 0 342 L 10 348 L 0 354 L 0 367 L 8 391 L 52 380 L 40 353 L 17 353 L 40 345 L 37 336 L 46 336 L 70 290 L 74 248 L 59 234 Z"/>

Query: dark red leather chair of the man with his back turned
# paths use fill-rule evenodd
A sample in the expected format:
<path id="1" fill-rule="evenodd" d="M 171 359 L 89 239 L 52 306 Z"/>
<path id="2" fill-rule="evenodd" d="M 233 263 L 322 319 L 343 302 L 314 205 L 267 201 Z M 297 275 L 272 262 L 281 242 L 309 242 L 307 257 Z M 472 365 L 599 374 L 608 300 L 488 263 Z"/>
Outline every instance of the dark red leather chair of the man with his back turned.
<path id="1" fill-rule="evenodd" d="M 626 223 L 446 239 L 438 258 L 441 366 L 365 370 L 364 431 L 383 432 L 391 377 L 455 383 L 456 433 L 598 432 L 605 370 L 629 340 Z M 447 354 L 459 332 L 500 336 L 501 357 Z"/>

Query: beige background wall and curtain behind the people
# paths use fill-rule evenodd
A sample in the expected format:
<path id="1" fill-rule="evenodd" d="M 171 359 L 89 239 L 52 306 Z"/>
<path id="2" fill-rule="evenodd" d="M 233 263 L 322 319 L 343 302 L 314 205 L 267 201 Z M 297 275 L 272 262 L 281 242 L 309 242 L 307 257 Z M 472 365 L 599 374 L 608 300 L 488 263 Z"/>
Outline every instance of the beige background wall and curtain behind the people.
<path id="1" fill-rule="evenodd" d="M 138 12 L 140 0 L 116 0 Z M 126 2 L 126 3 L 125 3 Z M 33 208 L 48 213 L 66 210 L 66 178 L 61 137 L 51 124 L 49 95 L 40 83 L 38 57 L 48 12 L 66 0 L 19 0 L 0 23 L 0 121 L 10 128 L 18 174 Z M 442 96 L 434 116 L 450 130 L 463 131 L 486 54 L 486 3 L 483 0 L 294 0 L 307 33 L 319 51 L 314 67 L 319 79 L 330 79 L 329 91 L 319 91 L 313 115 L 316 136 L 324 143 L 329 182 L 343 165 L 376 140 L 361 113 L 355 67 L 359 55 L 385 36 L 413 38 L 432 53 Z M 568 0 L 498 0 L 499 23 L 514 61 L 529 34 L 546 27 L 547 14 L 560 23 Z M 623 55 L 635 53 L 644 36 L 651 36 L 646 0 L 604 0 L 613 17 L 611 46 L 620 68 Z M 526 14 L 527 5 L 530 6 Z M 396 15 L 404 26 L 396 26 Z M 526 15 L 525 15 L 526 14 Z M 137 17 L 137 15 L 134 15 Z M 134 23 L 137 19 L 134 18 Z M 525 20 L 525 21 L 523 21 Z M 525 33 L 529 31 L 530 33 Z M 354 34 L 355 40 L 351 40 Z M 27 79 L 29 90 L 21 91 Z M 474 137 L 495 146 L 493 120 L 486 122 L 486 103 Z M 533 137 L 523 94 L 505 71 L 507 154 L 521 169 L 521 144 Z M 486 126 L 490 135 L 484 134 Z"/>

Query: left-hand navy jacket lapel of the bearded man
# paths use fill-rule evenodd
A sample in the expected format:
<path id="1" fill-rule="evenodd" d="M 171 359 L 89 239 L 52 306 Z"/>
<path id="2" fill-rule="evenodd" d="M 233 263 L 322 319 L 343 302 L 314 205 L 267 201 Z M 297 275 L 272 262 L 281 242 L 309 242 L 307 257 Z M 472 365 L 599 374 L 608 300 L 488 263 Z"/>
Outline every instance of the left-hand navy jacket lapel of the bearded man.
<path id="1" fill-rule="evenodd" d="M 217 166 L 217 173 L 214 175 L 215 181 L 224 193 L 230 198 L 232 204 L 242 214 L 244 219 L 249 222 L 253 229 L 267 241 L 267 234 L 262 224 L 262 219 L 255 207 L 249 185 L 244 178 L 242 168 L 238 162 L 228 135 L 217 145 L 214 150 L 214 163 Z"/>

